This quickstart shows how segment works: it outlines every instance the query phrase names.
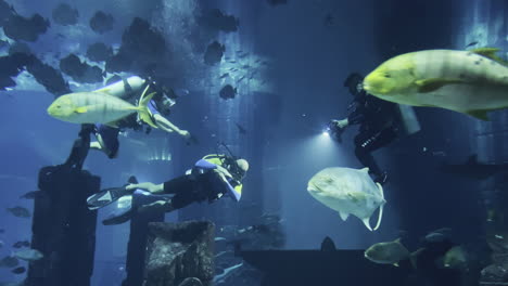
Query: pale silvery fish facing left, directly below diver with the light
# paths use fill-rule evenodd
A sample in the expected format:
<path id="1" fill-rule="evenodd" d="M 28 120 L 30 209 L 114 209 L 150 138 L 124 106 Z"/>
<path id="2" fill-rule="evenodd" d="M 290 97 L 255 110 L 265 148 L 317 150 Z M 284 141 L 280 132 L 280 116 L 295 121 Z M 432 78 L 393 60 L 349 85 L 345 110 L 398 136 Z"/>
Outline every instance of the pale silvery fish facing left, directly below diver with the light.
<path id="1" fill-rule="evenodd" d="M 370 217 L 379 208 L 378 223 L 381 224 L 384 200 L 383 188 L 374 183 L 369 169 L 327 168 L 316 173 L 307 186 L 308 193 L 325 206 L 335 210 L 342 220 L 350 214 L 360 219 L 365 226 L 372 231 Z"/>

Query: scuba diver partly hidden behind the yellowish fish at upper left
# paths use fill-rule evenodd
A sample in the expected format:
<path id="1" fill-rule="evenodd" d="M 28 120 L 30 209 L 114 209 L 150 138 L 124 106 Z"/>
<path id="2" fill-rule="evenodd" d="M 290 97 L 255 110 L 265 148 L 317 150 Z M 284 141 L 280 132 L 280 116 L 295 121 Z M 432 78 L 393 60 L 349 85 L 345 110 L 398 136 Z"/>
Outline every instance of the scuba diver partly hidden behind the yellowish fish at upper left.
<path id="1" fill-rule="evenodd" d="M 149 91 L 156 92 L 152 101 L 148 104 L 150 117 L 156 128 L 168 133 L 178 133 L 187 141 L 187 144 L 191 142 L 198 143 L 196 139 L 192 136 L 189 131 L 178 128 L 166 118 L 166 116 L 170 114 L 170 107 L 175 105 L 176 99 L 189 93 L 187 90 L 175 91 L 164 86 L 158 86 L 153 80 L 145 80 L 136 76 L 96 90 L 96 92 L 107 93 L 131 102 L 135 105 L 137 105 L 136 101 L 139 101 Z M 116 127 L 96 125 L 93 133 L 96 134 L 97 141 L 90 143 L 91 148 L 104 152 L 110 158 L 115 158 L 117 156 L 119 146 L 118 133 L 122 129 L 139 131 L 143 128 L 143 122 L 138 118 L 137 114 L 123 118 L 115 122 L 115 125 Z M 148 127 L 145 132 L 150 133 L 150 131 L 151 127 Z"/>

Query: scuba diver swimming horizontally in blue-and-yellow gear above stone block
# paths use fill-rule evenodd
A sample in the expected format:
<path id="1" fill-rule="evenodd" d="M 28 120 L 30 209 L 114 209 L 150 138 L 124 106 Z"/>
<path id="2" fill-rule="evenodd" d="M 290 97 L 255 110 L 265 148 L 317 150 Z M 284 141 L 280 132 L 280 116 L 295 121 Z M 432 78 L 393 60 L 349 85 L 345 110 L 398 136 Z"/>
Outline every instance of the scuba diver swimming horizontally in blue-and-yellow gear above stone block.
<path id="1" fill-rule="evenodd" d="M 162 184 L 129 183 L 120 187 L 105 188 L 87 199 L 88 208 L 99 209 L 129 195 L 137 196 L 137 200 L 142 202 L 137 206 L 132 203 L 127 210 L 102 222 L 104 225 L 111 225 L 124 223 L 137 212 L 170 212 L 192 203 L 207 200 L 211 204 L 225 195 L 239 202 L 242 195 L 242 180 L 247 170 L 249 162 L 245 159 L 232 155 L 211 154 L 198 160 L 185 176 Z"/>

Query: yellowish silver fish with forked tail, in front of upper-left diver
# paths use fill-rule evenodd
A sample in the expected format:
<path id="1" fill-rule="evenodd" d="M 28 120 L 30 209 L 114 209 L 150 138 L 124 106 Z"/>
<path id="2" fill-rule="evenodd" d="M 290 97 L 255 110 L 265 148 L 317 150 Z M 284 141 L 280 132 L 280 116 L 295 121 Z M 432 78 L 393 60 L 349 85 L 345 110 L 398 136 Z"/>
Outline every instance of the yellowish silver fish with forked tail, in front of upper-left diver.
<path id="1" fill-rule="evenodd" d="M 147 104 L 155 93 L 140 100 L 138 106 L 102 92 L 76 92 L 62 95 L 48 107 L 48 114 L 56 119 L 73 123 L 114 122 L 132 113 L 139 113 L 141 120 L 157 128 L 149 114 Z"/>

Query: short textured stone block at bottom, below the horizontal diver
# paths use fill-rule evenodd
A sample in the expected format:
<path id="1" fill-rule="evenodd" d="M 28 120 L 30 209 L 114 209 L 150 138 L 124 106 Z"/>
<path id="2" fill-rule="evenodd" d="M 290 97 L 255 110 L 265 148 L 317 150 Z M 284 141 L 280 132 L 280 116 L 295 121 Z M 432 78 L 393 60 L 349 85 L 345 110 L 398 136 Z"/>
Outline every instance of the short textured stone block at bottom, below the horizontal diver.
<path id="1" fill-rule="evenodd" d="M 212 285 L 214 235 L 208 221 L 150 223 L 143 285 Z"/>

